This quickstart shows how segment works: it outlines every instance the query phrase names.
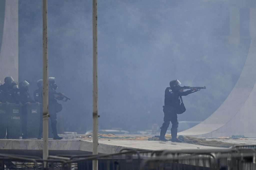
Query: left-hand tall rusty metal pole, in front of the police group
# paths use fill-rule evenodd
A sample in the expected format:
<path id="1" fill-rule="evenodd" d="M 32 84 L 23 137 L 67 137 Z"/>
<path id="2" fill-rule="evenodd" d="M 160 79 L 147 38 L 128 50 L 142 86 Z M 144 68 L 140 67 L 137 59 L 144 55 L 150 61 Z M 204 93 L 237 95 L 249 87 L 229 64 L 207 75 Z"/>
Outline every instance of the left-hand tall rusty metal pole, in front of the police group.
<path id="1" fill-rule="evenodd" d="M 43 4 L 43 159 L 48 158 L 48 35 L 47 35 L 47 0 Z"/>

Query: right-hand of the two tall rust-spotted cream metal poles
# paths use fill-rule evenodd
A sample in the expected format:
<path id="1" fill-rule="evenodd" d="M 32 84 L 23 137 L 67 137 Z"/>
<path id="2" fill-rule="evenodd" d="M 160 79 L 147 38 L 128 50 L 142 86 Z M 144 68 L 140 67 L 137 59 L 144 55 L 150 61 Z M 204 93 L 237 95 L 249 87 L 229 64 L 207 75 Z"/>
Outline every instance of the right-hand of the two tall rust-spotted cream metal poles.
<path id="1" fill-rule="evenodd" d="M 98 154 L 98 82 L 97 82 L 97 0 L 92 0 L 92 34 L 93 34 L 93 151 Z M 98 170 L 98 160 L 93 160 L 93 170 Z"/>

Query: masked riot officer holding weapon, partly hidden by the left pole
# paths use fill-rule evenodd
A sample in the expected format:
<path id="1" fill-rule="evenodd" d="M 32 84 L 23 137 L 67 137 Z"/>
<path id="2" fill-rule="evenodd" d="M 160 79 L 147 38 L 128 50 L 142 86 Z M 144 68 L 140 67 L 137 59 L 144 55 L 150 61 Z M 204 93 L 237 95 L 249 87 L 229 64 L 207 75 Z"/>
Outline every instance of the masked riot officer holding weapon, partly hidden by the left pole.
<path id="1" fill-rule="evenodd" d="M 62 139 L 62 137 L 58 136 L 58 131 L 57 131 L 56 108 L 59 105 L 57 100 L 62 100 L 63 97 L 57 95 L 57 92 L 55 91 L 58 88 L 55 81 L 55 77 L 49 77 L 48 81 L 49 81 L 49 114 L 50 114 L 50 120 L 51 120 L 53 139 Z"/>

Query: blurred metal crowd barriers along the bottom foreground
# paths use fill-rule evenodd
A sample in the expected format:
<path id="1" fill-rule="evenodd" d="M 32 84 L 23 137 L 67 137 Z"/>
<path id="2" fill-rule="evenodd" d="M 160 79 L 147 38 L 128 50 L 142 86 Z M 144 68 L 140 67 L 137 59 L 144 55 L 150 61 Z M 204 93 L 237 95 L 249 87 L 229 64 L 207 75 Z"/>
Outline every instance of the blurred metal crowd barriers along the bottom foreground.
<path id="1" fill-rule="evenodd" d="M 0 170 L 63 169 L 89 170 L 98 160 L 98 169 L 106 170 L 256 170 L 256 146 L 237 145 L 214 150 L 136 150 L 114 154 L 56 155 L 40 157 L 0 154 Z"/>

